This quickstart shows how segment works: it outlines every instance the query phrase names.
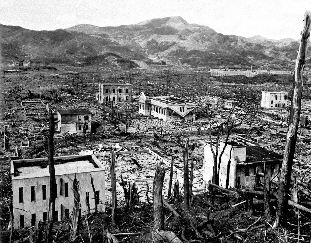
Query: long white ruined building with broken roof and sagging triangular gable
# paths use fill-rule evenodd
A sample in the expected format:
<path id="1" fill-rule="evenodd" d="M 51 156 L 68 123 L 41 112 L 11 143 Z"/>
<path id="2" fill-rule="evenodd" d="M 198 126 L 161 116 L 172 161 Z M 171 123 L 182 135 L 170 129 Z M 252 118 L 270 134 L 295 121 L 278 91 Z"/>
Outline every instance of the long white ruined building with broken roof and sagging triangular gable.
<path id="1" fill-rule="evenodd" d="M 164 121 L 195 120 L 197 104 L 170 96 L 147 97 L 144 92 L 139 95 L 139 113 L 153 115 Z"/>

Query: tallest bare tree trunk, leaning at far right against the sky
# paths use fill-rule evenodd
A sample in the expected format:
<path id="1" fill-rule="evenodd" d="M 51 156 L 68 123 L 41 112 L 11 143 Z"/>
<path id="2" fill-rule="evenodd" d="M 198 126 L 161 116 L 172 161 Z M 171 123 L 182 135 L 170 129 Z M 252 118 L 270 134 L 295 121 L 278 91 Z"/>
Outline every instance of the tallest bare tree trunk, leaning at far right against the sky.
<path id="1" fill-rule="evenodd" d="M 278 222 L 282 226 L 287 223 L 288 193 L 290 189 L 290 176 L 293 167 L 293 159 L 296 148 L 297 130 L 301 106 L 303 72 L 307 55 L 308 39 L 310 36 L 311 12 L 306 11 L 304 15 L 304 29 L 301 32 L 301 41 L 295 66 L 295 88 L 293 90 L 292 104 L 290 109 L 289 127 L 287 131 L 284 157 L 280 175 L 280 186 L 278 189 Z"/>

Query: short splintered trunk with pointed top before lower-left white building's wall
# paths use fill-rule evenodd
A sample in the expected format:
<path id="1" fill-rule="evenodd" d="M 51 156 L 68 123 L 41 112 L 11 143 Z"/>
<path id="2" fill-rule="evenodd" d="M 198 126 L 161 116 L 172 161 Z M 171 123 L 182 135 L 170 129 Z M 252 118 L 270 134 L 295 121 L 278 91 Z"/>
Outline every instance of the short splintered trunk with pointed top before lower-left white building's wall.
<path id="1" fill-rule="evenodd" d="M 75 178 L 73 179 L 73 197 L 75 201 L 72 209 L 72 224 L 70 229 L 71 241 L 75 239 L 77 235 L 79 235 L 79 225 L 81 219 L 80 194 L 76 174 Z"/>

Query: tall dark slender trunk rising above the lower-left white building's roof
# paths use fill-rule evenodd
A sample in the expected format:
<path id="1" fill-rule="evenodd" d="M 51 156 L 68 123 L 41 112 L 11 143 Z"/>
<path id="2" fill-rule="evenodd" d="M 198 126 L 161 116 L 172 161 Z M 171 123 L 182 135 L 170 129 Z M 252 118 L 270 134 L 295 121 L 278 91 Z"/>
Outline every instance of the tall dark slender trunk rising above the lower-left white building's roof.
<path id="1" fill-rule="evenodd" d="M 48 137 L 48 163 L 49 163 L 49 175 L 50 175 L 50 196 L 49 196 L 49 215 L 46 227 L 45 242 L 52 243 L 52 232 L 53 232 L 53 215 L 55 213 L 55 168 L 54 168 L 54 132 L 55 123 L 54 115 L 52 113 L 51 107 L 47 105 L 47 110 L 49 112 L 49 137 Z M 56 192 L 57 193 L 57 192 Z"/>

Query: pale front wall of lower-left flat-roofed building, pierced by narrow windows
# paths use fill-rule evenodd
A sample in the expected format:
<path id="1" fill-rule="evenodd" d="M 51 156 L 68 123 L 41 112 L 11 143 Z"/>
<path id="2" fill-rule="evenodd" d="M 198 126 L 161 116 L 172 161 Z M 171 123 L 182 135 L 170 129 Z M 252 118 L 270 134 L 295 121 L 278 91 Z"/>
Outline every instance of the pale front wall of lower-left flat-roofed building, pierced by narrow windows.
<path id="1" fill-rule="evenodd" d="M 94 156 L 95 157 L 95 156 Z M 85 173 L 77 173 L 77 180 L 79 182 L 81 214 L 86 214 L 86 192 L 90 192 L 90 211 L 94 212 L 95 200 L 94 193 L 91 186 L 92 174 L 95 190 L 100 191 L 100 200 L 102 203 L 105 201 L 105 171 L 93 171 Z M 61 178 L 63 180 L 62 195 Z M 74 174 L 63 174 L 56 176 L 57 195 L 55 200 L 55 210 L 58 211 L 58 221 L 65 219 L 65 209 L 69 209 L 69 217 L 72 216 L 72 208 L 74 205 L 73 198 L 73 179 Z M 65 197 L 65 182 L 68 182 L 68 197 Z M 42 185 L 46 185 L 46 200 L 42 200 Z M 35 186 L 35 201 L 31 202 L 30 187 Z M 24 202 L 19 203 L 19 187 L 23 187 Z M 36 177 L 36 178 L 21 178 L 12 179 L 13 189 L 13 214 L 14 214 L 14 228 L 20 227 L 20 215 L 24 215 L 25 227 L 31 226 L 31 214 L 36 214 L 37 220 L 43 220 L 43 213 L 49 210 L 49 177 Z M 105 205 L 99 204 L 98 211 L 104 212 Z M 61 218 L 61 216 L 63 218 Z"/>

